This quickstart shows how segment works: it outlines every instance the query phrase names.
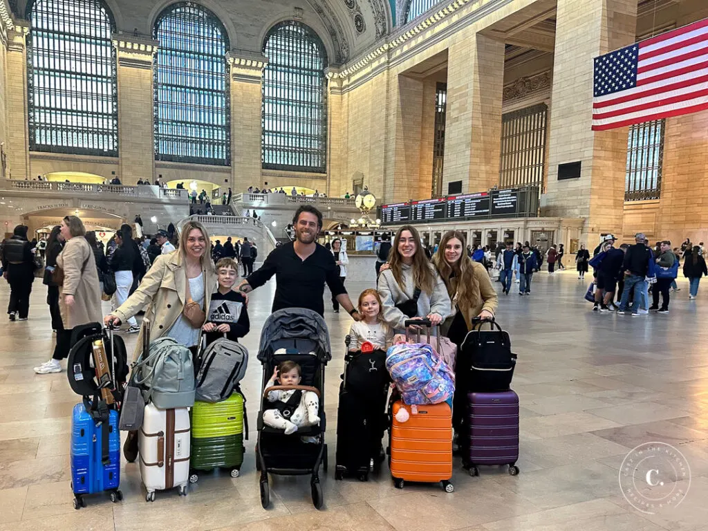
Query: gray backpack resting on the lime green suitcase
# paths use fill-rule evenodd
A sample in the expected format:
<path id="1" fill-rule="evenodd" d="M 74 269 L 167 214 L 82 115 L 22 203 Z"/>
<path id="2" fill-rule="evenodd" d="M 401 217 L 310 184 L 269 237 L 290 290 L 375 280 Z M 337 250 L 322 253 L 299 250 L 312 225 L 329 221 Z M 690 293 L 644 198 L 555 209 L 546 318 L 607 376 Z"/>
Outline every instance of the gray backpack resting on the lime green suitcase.
<path id="1" fill-rule="evenodd" d="M 211 343 L 200 356 L 196 399 L 220 402 L 229 398 L 248 363 L 249 351 L 240 343 L 226 338 Z"/>

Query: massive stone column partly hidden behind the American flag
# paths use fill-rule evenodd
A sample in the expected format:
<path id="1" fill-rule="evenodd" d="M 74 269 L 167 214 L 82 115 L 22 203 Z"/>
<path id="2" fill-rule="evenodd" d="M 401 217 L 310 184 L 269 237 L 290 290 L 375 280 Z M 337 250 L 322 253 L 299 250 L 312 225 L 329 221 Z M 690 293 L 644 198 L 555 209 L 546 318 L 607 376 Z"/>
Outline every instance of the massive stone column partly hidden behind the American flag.
<path id="1" fill-rule="evenodd" d="M 583 239 L 622 232 L 627 128 L 593 132 L 593 57 L 634 42 L 636 0 L 558 0 L 549 169 L 542 215 L 583 217 Z M 580 161 L 580 178 L 558 165 Z"/>

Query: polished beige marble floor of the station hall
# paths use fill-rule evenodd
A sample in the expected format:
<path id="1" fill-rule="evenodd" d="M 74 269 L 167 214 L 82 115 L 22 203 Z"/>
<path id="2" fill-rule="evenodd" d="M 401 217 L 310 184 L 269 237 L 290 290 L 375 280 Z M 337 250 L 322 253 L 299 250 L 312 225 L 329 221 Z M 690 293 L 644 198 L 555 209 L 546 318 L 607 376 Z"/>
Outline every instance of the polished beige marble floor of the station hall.
<path id="1" fill-rule="evenodd" d="M 687 283 L 670 314 L 632 319 L 598 314 L 583 301 L 586 283 L 568 271 L 536 275 L 530 297 L 503 297 L 498 321 L 512 338 L 521 400 L 520 474 L 491 467 L 471 477 L 455 461 L 454 493 L 439 486 L 394 489 L 387 467 L 367 483 L 323 479 L 315 510 L 305 477 L 274 476 L 271 507 L 261 508 L 246 442 L 241 476 L 202 475 L 189 495 L 158 493 L 145 503 L 136 464 L 124 464 L 122 503 L 89 498 L 74 510 L 69 488 L 72 394 L 66 373 L 35 375 L 53 336 L 45 289 L 35 282 L 30 320 L 0 322 L 0 531 L 2 530 L 708 530 L 708 293 L 689 301 Z M 498 284 L 496 284 L 498 286 Z M 348 285 L 357 293 L 367 287 Z M 272 287 L 252 294 L 253 359 L 242 384 L 250 404 L 261 389 L 255 360 Z M 5 307 L 8 287 L 0 285 Z M 106 309 L 108 309 L 106 307 Z M 326 411 L 334 462 L 336 402 L 346 313 L 326 314 L 333 360 Z M 127 336 L 129 348 L 135 336 Z M 249 405 L 250 405 L 249 404 Z M 256 406 L 249 408 L 256 426 Z M 637 445 L 667 442 L 690 465 L 690 489 L 678 507 L 642 513 L 619 488 L 624 457 Z M 684 490 L 687 478 L 680 482 Z"/>

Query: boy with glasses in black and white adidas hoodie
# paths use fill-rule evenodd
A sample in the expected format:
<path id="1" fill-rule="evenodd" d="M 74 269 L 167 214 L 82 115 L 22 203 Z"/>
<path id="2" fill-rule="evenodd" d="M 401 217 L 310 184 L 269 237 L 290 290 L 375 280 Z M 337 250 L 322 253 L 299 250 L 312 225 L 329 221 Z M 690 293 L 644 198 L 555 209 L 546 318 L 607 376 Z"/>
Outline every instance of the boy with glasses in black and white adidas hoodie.
<path id="1" fill-rule="evenodd" d="M 202 326 L 207 345 L 224 337 L 238 343 L 251 329 L 249 312 L 246 311 L 246 298 L 239 291 L 234 291 L 234 283 L 239 276 L 239 266 L 232 258 L 222 258 L 217 262 L 219 288 L 212 294 L 212 301 L 207 312 L 207 322 Z"/>

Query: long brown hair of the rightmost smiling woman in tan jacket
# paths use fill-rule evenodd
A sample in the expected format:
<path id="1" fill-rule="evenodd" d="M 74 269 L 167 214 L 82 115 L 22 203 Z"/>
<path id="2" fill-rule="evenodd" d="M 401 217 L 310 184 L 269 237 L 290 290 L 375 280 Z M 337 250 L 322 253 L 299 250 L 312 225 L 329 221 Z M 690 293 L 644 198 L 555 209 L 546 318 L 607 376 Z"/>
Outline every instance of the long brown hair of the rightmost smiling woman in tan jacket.
<path id="1" fill-rule="evenodd" d="M 462 244 L 462 254 L 459 260 L 452 265 L 445 260 L 445 246 L 451 239 L 458 239 Z M 457 292 L 457 306 L 462 311 L 475 307 L 479 304 L 481 293 L 479 292 L 479 280 L 474 276 L 474 268 L 484 267 L 484 265 L 476 264 L 472 258 L 467 256 L 467 246 L 464 241 L 464 234 L 459 231 L 449 231 L 442 236 L 438 251 L 433 255 L 433 263 L 438 269 L 442 281 L 447 287 L 447 294 L 452 300 Z"/>

